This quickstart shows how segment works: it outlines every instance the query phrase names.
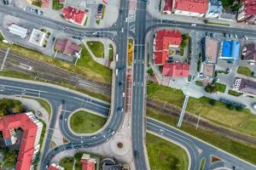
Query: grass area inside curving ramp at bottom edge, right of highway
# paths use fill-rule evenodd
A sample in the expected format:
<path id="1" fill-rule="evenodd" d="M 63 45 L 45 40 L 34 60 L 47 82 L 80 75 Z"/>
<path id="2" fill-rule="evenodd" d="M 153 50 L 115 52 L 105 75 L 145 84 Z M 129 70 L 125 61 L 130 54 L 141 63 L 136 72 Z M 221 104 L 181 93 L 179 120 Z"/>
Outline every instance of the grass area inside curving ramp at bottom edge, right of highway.
<path id="1" fill-rule="evenodd" d="M 186 151 L 176 144 L 147 133 L 146 145 L 152 170 L 188 169 L 189 157 Z"/>

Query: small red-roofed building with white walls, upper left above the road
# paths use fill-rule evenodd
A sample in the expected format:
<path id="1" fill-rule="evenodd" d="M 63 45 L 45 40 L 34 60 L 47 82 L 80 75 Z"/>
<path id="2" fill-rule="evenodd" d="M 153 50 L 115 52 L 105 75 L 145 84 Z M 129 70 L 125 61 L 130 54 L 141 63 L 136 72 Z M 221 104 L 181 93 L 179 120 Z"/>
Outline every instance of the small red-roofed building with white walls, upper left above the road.
<path id="1" fill-rule="evenodd" d="M 84 11 L 78 8 L 67 7 L 62 9 L 62 14 L 65 20 L 77 24 L 79 26 L 84 26 L 86 20 L 86 14 Z"/>

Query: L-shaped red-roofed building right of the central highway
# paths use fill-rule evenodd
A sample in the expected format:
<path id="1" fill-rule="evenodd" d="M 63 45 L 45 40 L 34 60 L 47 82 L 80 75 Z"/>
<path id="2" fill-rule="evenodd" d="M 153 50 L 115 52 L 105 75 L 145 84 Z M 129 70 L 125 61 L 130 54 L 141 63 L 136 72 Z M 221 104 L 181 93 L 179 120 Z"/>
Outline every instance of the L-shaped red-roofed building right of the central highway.
<path id="1" fill-rule="evenodd" d="M 177 30 L 160 30 L 154 37 L 154 65 L 166 64 L 170 48 L 178 48 L 182 42 L 182 35 Z"/>

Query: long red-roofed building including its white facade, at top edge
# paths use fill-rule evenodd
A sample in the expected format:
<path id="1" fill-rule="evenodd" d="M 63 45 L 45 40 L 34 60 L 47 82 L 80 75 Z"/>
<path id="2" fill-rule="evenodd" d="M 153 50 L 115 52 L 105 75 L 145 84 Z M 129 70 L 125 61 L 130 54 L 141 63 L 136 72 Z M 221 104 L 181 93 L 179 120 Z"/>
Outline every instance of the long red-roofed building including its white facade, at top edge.
<path id="1" fill-rule="evenodd" d="M 208 0 L 166 0 L 164 14 L 183 14 L 203 17 L 207 13 Z"/>

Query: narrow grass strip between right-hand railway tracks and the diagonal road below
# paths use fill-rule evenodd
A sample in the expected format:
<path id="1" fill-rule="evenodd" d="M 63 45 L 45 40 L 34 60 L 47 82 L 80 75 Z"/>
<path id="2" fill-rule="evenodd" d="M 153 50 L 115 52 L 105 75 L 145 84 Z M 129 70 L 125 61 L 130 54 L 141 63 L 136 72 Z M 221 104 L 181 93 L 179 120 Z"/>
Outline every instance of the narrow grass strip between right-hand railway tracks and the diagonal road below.
<path id="1" fill-rule="evenodd" d="M 166 116 L 157 111 L 151 110 L 147 111 L 147 116 L 153 117 L 154 119 L 157 119 L 161 122 L 166 122 L 173 127 L 176 127 L 177 125 L 177 117 L 174 116 Z M 226 150 L 235 156 L 241 157 L 241 159 L 256 164 L 256 148 L 254 148 L 253 146 L 250 146 L 248 144 L 241 144 L 235 140 L 219 134 L 218 132 L 206 130 L 201 128 L 200 126 L 196 130 L 194 126 L 189 125 L 185 121 L 183 122 L 181 130 L 199 139 L 202 139 L 209 144 L 213 144 L 220 149 Z"/>

